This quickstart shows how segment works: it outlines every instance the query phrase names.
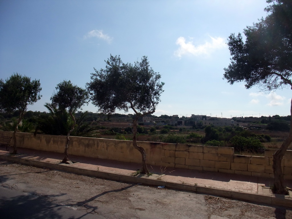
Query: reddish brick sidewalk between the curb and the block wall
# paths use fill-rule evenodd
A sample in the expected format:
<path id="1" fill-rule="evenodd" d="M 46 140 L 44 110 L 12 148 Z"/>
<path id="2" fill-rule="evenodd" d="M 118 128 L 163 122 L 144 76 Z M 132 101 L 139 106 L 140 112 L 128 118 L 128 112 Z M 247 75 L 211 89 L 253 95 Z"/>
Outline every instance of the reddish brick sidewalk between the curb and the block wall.
<path id="1" fill-rule="evenodd" d="M 9 152 L 5 151 L 5 149 L 1 148 L 0 157 L 2 159 L 5 159 L 5 157 L 11 157 L 11 159 L 13 159 L 14 157 L 15 159 L 18 158 L 18 160 L 39 161 L 39 166 L 41 166 L 41 162 L 45 162 L 50 164 L 60 164 L 59 166 L 69 166 L 71 170 L 72 168 L 76 168 L 128 177 L 131 177 L 131 174 L 141 167 L 141 164 L 136 163 L 126 163 L 81 156 L 79 157 L 74 155 L 69 155 L 69 159 L 74 162 L 73 164 L 62 164 L 60 161 L 63 159 L 64 155 L 60 153 L 36 151 L 25 148 L 18 148 L 17 151 L 19 154 L 13 156 L 10 155 Z M 58 166 L 54 166 L 54 168 L 58 169 Z M 204 191 L 205 188 L 207 192 L 215 191 L 214 194 L 226 194 L 226 196 L 228 196 L 228 191 L 242 192 L 242 194 L 245 193 L 246 196 L 248 196 L 248 194 L 272 195 L 272 193 L 270 193 L 269 187 L 273 184 L 273 179 L 270 178 L 228 173 L 203 172 L 180 168 L 165 168 L 150 165 L 148 168 L 150 172 L 155 174 L 148 177 L 148 179 L 144 178 L 145 182 L 154 180 L 155 185 L 159 185 L 161 182 L 161 185 L 180 185 L 182 189 L 198 187 L 200 188 L 200 191 Z M 292 181 L 286 180 L 285 183 L 287 187 L 292 187 Z M 220 192 L 220 190 L 222 190 L 222 192 Z M 291 193 L 290 196 L 286 196 L 286 198 L 291 199 L 290 201 L 292 201 Z"/>

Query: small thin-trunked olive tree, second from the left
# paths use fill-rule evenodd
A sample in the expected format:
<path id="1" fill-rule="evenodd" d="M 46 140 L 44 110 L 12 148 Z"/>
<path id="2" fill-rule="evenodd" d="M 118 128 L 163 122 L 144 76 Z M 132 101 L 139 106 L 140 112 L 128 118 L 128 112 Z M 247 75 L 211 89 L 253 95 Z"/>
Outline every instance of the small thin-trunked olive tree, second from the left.
<path id="1" fill-rule="evenodd" d="M 52 106 L 57 107 L 59 110 L 68 110 L 70 117 L 73 120 L 71 123 L 71 127 L 67 133 L 66 144 L 65 144 L 65 156 L 62 160 L 63 163 L 69 161 L 68 159 L 68 144 L 69 144 L 69 135 L 74 130 L 74 126 L 76 125 L 76 120 L 74 117 L 74 113 L 77 109 L 80 109 L 82 106 L 88 103 L 88 92 L 78 87 L 77 85 L 73 85 L 71 81 L 62 81 L 56 86 L 56 92 L 53 93 L 51 97 Z"/>

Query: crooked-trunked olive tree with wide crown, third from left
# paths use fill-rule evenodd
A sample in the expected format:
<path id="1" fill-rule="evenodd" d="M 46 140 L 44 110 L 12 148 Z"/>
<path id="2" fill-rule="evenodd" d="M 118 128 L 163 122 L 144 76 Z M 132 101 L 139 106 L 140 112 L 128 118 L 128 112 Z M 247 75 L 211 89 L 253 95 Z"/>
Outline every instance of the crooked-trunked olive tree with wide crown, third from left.
<path id="1" fill-rule="evenodd" d="M 142 155 L 141 173 L 149 174 L 145 149 L 137 144 L 137 122 L 144 115 L 155 112 L 163 92 L 161 75 L 153 71 L 146 56 L 134 65 L 125 64 L 119 56 L 112 55 L 105 62 L 105 69 L 94 69 L 95 73 L 91 73 L 91 81 L 87 83 L 92 103 L 109 115 L 116 109 L 134 111 L 133 146 Z"/>

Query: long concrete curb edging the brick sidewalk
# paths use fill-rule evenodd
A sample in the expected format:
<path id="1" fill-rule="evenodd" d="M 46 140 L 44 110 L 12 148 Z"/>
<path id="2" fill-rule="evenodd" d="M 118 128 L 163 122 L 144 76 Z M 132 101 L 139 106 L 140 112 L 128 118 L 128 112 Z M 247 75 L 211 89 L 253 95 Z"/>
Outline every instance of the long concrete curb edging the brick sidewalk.
<path id="1" fill-rule="evenodd" d="M 13 161 L 20 164 L 25 164 L 29 166 L 38 166 L 38 167 L 46 167 L 55 170 L 62 170 L 67 171 L 70 173 L 76 173 L 81 175 L 88 175 L 93 177 L 99 178 L 106 178 L 110 180 L 117 180 L 117 181 L 124 181 L 128 183 L 142 183 L 147 185 L 156 185 L 156 186 L 165 186 L 167 188 L 172 189 L 179 189 L 179 190 L 187 190 L 202 194 L 209 194 L 209 195 L 216 195 L 216 196 L 223 196 L 231 199 L 239 199 L 244 201 L 252 201 L 257 203 L 264 203 L 269 205 L 277 205 L 277 206 L 285 206 L 285 207 L 292 207 L 292 199 L 289 197 L 285 197 L 284 195 L 264 195 L 264 194 L 256 194 L 256 193 L 248 193 L 248 192 L 238 192 L 238 191 L 231 191 L 225 189 L 217 189 L 217 188 L 210 188 L 210 187 L 202 187 L 196 185 L 188 185 L 182 183 L 173 183 L 162 181 L 158 179 L 153 179 L 146 177 L 145 175 L 139 174 L 138 176 L 131 176 L 131 175 L 124 175 L 124 174 L 117 174 L 117 173 L 108 173 L 104 171 L 98 170 L 88 170 L 80 167 L 69 166 L 66 164 L 55 164 L 55 163 L 48 163 L 44 161 L 36 161 L 31 159 L 25 159 L 21 157 L 14 157 L 10 154 L 0 155 L 0 158 L 6 161 Z"/>

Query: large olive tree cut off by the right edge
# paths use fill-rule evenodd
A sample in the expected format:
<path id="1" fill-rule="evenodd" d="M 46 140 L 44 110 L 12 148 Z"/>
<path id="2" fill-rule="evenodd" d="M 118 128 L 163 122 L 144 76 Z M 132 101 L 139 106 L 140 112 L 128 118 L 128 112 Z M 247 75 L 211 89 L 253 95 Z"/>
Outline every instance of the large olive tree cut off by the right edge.
<path id="1" fill-rule="evenodd" d="M 229 36 L 231 63 L 224 69 L 224 78 L 230 84 L 244 81 L 247 89 L 252 86 L 266 91 L 286 86 L 292 89 L 292 4 L 290 0 L 267 3 L 272 3 L 265 8 L 267 17 L 244 29 L 245 41 L 240 33 Z M 292 102 L 290 112 L 292 115 Z M 274 192 L 278 194 L 287 192 L 281 160 L 291 142 L 292 120 L 288 137 L 273 155 Z"/>

